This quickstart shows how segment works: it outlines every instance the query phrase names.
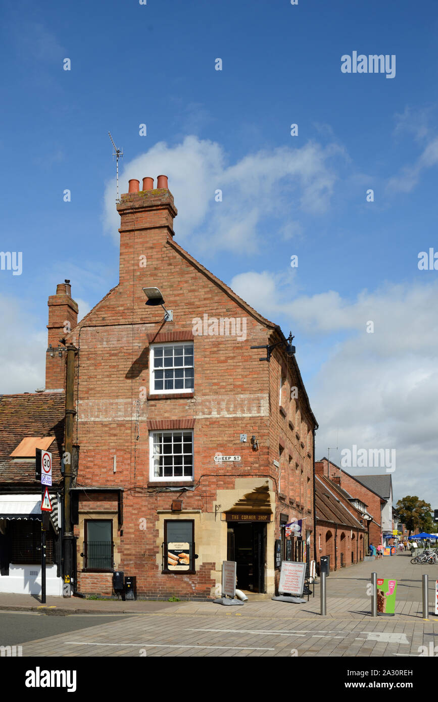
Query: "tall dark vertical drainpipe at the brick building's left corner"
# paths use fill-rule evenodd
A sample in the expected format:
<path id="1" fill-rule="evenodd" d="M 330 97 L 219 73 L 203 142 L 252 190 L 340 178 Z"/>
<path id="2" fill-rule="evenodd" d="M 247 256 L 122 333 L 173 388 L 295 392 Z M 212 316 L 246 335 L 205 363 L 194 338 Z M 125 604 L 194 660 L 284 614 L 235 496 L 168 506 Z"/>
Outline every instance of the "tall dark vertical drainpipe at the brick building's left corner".
<path id="1" fill-rule="evenodd" d="M 67 453 L 68 463 L 64 463 L 64 582 L 72 582 L 73 574 L 73 545 L 74 535 L 72 529 L 72 503 L 70 488 L 72 487 L 72 456 L 73 456 L 73 421 L 76 411 L 74 410 L 74 355 L 77 348 L 71 344 L 67 346 L 67 376 L 65 382 L 65 453 Z M 77 589 L 74 583 L 74 590 Z M 71 585 L 65 597 L 71 594 Z"/>

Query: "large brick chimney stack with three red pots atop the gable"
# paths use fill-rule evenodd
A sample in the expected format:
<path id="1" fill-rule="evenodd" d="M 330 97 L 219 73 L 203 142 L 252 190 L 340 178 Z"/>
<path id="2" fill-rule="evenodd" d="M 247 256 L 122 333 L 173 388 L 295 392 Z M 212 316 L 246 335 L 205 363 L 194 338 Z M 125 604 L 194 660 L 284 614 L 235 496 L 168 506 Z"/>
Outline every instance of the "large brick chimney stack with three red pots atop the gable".
<path id="1" fill-rule="evenodd" d="M 129 181 L 128 192 L 117 203 L 120 223 L 120 285 L 140 291 L 148 270 L 160 270 L 164 245 L 172 239 L 178 212 L 168 190 L 167 176 Z"/>

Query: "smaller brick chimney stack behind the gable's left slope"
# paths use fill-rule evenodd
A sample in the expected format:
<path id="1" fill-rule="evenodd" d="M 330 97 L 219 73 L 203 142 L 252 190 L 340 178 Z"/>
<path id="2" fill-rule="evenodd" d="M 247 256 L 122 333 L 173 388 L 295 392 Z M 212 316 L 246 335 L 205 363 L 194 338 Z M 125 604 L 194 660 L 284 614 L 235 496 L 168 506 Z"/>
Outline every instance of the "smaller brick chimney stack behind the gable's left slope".
<path id="1" fill-rule="evenodd" d="M 65 388 L 65 352 L 60 355 L 58 349 L 65 348 L 60 339 L 77 325 L 78 306 L 71 291 L 69 280 L 65 280 L 56 286 L 56 295 L 48 298 L 46 390 Z"/>

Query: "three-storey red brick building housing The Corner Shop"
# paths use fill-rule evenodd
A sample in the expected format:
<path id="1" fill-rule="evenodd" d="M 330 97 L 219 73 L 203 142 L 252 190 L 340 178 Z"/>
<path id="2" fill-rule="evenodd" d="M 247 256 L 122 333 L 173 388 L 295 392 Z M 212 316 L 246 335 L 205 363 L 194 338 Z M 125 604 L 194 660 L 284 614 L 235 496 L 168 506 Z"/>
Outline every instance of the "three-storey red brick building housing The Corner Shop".
<path id="1" fill-rule="evenodd" d="M 77 326 L 67 290 L 53 322 L 77 349 L 77 586 L 110 595 L 119 569 L 144 597 L 212 597 L 232 559 L 239 588 L 274 593 L 276 540 L 314 552 L 317 422 L 279 326 L 174 241 L 157 185 L 131 180 L 117 205 L 119 284 Z M 288 544 L 293 519 L 305 538 Z"/>

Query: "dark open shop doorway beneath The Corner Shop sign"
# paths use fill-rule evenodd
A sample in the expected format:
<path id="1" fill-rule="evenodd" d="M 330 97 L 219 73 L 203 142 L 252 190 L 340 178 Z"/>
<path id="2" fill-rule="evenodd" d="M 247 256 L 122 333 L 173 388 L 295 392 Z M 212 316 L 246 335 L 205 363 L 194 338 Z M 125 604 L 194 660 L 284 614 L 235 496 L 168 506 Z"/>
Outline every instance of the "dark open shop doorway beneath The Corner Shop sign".
<path id="1" fill-rule="evenodd" d="M 266 524 L 229 525 L 227 559 L 236 561 L 239 590 L 265 592 L 265 541 Z"/>

